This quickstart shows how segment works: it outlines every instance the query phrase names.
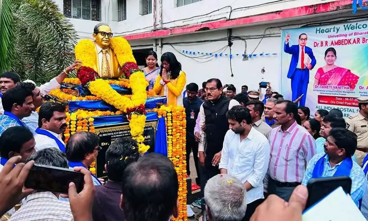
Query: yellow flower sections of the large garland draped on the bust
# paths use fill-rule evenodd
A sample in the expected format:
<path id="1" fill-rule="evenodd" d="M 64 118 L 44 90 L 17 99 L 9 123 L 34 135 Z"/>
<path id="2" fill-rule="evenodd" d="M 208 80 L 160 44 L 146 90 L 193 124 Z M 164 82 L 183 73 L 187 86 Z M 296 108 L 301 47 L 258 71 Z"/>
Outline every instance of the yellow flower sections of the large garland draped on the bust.
<path id="1" fill-rule="evenodd" d="M 132 49 L 129 43 L 123 37 L 119 36 L 112 38 L 110 46 L 116 54 L 120 66 L 123 66 L 127 62 L 135 63 Z M 95 53 L 95 45 L 91 40 L 81 40 L 77 44 L 77 46 L 75 46 L 75 57 L 76 59 L 82 60 L 83 66 L 93 68 L 96 56 L 97 55 Z M 146 87 L 148 86 L 148 82 L 145 79 L 144 73 L 142 73 L 142 71 L 132 73 L 129 80 L 132 89 L 131 99 L 118 94 L 103 79 L 91 81 L 89 83 L 89 90 L 92 94 L 102 98 L 102 100 L 107 102 L 108 104 L 113 105 L 115 108 L 123 112 L 126 112 L 127 108 L 134 108 L 141 104 L 144 105 L 147 99 Z M 134 133 L 136 131 L 142 131 L 143 133 L 144 126 L 142 128 L 138 127 L 142 125 L 142 120 L 144 120 L 145 122 L 145 116 L 137 116 L 137 113 L 132 113 L 129 126 L 131 128 L 131 131 L 133 131 Z M 142 134 L 140 134 L 140 136 L 134 136 L 132 134 L 132 136 L 139 143 L 138 148 L 140 148 L 141 150 L 148 150 L 149 147 L 143 144 Z"/>

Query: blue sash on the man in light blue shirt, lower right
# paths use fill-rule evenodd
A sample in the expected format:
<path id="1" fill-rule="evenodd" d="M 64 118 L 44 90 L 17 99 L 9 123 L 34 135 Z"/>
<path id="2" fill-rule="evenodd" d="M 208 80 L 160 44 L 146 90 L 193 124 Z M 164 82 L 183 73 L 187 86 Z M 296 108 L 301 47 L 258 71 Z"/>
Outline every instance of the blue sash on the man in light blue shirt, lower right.
<path id="1" fill-rule="evenodd" d="M 323 174 L 323 167 L 325 165 L 325 156 L 327 154 L 323 155 L 321 157 L 313 169 L 313 175 L 312 178 L 320 178 Z M 340 166 L 337 168 L 335 174 L 333 176 L 349 176 L 351 172 L 351 168 L 353 168 L 353 160 L 351 157 L 348 157 L 344 159 L 344 161 L 340 164 Z"/>

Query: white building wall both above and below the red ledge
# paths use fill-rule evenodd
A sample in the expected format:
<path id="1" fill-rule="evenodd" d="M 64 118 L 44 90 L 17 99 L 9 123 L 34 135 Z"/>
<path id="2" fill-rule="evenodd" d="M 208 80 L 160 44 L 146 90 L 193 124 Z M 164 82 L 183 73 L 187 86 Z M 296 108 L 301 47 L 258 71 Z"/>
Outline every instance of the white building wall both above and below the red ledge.
<path id="1" fill-rule="evenodd" d="M 159 0 L 156 0 L 157 3 Z M 295 8 L 305 5 L 321 4 L 331 2 L 333 0 L 203 0 L 186 6 L 176 7 L 176 0 L 162 0 L 162 21 L 163 28 L 177 27 L 182 25 L 197 24 L 199 22 L 229 18 L 231 19 L 245 17 L 256 14 L 264 14 L 272 11 L 284 10 L 287 8 Z M 63 0 L 56 0 L 63 10 Z M 231 4 L 229 4 L 231 3 Z M 229 7 L 226 7 L 229 6 Z M 210 13 L 219 8 L 219 11 L 211 14 L 190 18 L 201 14 Z M 239 9 L 236 9 L 239 8 Z M 153 27 L 153 14 L 139 15 L 139 1 L 127 0 L 127 20 L 113 21 L 117 13 L 117 0 L 102 0 L 101 18 L 102 22 L 106 22 L 112 27 L 114 35 L 129 35 L 139 32 L 147 32 Z M 152 9 L 153 11 L 153 9 Z M 160 6 L 157 6 L 156 24 L 159 28 Z M 233 36 L 247 37 L 247 54 L 254 53 L 277 53 L 277 55 L 254 57 L 247 61 L 243 61 L 242 56 L 236 56 L 231 59 L 231 67 L 234 77 L 231 77 L 229 56 L 210 57 L 207 59 L 195 59 L 192 55 L 184 55 L 182 50 L 195 52 L 217 52 L 219 49 L 227 45 L 227 40 L 210 42 L 209 40 L 226 38 L 227 30 L 209 31 L 186 35 L 163 36 L 162 39 L 140 39 L 130 41 L 133 49 L 154 48 L 160 56 L 164 52 L 173 52 L 182 69 L 187 74 L 187 83 L 195 82 L 201 87 L 203 81 L 209 78 L 220 78 L 223 84 L 234 84 L 237 91 L 240 91 L 241 85 L 248 85 L 249 89 L 257 89 L 260 81 L 271 82 L 272 88 L 280 91 L 280 53 L 281 40 L 280 33 L 282 29 L 298 27 L 308 22 L 325 22 L 331 18 L 351 17 L 351 10 L 341 10 L 338 12 L 325 13 L 315 17 L 293 18 L 291 20 L 283 20 L 275 22 L 267 22 L 267 24 L 257 24 L 250 27 L 239 27 L 233 29 Z M 185 19 L 190 18 L 190 19 Z M 177 21 L 180 20 L 180 21 Z M 90 38 L 93 27 L 98 21 L 88 21 L 80 19 L 71 19 L 72 24 L 78 32 L 80 38 Z M 299 24 L 299 25 L 291 25 Z M 276 28 L 274 28 L 276 27 Z M 185 27 L 183 27 L 185 28 Z M 256 36 L 258 35 L 258 36 Z M 265 36 L 264 35 L 270 35 Z M 162 41 L 162 47 L 159 42 Z M 203 43 L 183 43 L 195 41 L 208 41 Z M 156 43 L 156 45 L 155 45 Z M 233 41 L 232 54 L 243 54 L 245 49 L 244 41 Z M 230 49 L 226 48 L 223 54 L 230 54 Z M 207 56 L 208 57 L 208 56 Z M 265 68 L 264 79 L 261 69 Z"/>

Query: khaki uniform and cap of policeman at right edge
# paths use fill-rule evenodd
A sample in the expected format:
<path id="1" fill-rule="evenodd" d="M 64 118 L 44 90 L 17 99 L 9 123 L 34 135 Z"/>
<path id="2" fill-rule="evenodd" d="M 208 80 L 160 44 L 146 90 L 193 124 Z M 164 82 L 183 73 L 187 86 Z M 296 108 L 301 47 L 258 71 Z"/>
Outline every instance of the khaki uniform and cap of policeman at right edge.
<path id="1" fill-rule="evenodd" d="M 367 98 L 358 98 L 359 103 L 368 103 Z M 355 115 L 349 116 L 346 119 L 346 129 L 357 134 L 357 150 L 355 151 L 355 157 L 360 166 L 363 164 L 363 159 L 368 152 L 368 119 L 365 118 L 360 112 Z"/>

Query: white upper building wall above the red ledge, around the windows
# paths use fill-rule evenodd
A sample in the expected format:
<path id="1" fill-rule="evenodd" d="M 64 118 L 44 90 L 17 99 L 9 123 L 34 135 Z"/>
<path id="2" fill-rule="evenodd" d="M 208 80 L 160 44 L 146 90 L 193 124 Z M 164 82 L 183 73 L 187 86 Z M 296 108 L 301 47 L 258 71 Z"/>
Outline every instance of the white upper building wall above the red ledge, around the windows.
<path id="1" fill-rule="evenodd" d="M 55 0 L 63 12 L 63 0 Z M 101 22 L 109 24 L 115 35 L 128 35 L 153 30 L 153 14 L 139 14 L 139 0 L 127 1 L 127 20 L 116 21 L 118 0 L 101 0 Z M 160 28 L 160 0 L 157 3 L 156 28 Z M 224 20 L 264 14 L 300 6 L 327 3 L 335 0 L 202 0 L 176 7 L 176 0 L 162 0 L 162 27 L 172 28 L 198 24 L 209 20 Z M 220 9 L 220 10 L 219 10 Z M 218 11 L 217 11 L 218 10 Z M 153 12 L 153 8 L 152 8 Z M 198 15 L 202 15 L 199 16 Z M 195 18 L 191 18 L 195 17 Z M 70 19 L 80 38 L 89 38 L 98 21 Z"/>

